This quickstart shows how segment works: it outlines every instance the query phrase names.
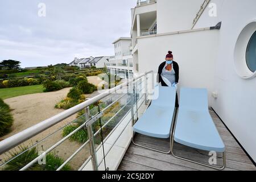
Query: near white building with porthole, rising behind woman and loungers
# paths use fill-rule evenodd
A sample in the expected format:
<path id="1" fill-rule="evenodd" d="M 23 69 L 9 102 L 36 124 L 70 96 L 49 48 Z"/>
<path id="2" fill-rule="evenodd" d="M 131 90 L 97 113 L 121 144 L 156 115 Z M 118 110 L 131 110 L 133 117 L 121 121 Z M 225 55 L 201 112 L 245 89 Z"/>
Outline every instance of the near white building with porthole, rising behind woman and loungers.
<path id="1" fill-rule="evenodd" d="M 157 73 L 172 51 L 180 67 L 178 93 L 180 87 L 207 88 L 209 107 L 254 162 L 255 7 L 255 0 L 158 0 L 131 10 L 134 72 Z"/>

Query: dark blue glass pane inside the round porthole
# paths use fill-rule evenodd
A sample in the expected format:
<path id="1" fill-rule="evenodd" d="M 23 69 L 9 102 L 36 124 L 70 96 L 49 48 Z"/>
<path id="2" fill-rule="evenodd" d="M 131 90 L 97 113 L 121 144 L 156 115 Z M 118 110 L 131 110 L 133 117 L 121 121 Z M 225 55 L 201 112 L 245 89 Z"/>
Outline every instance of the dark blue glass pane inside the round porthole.
<path id="1" fill-rule="evenodd" d="M 251 72 L 256 71 L 256 31 L 251 36 L 246 49 L 246 63 Z"/>

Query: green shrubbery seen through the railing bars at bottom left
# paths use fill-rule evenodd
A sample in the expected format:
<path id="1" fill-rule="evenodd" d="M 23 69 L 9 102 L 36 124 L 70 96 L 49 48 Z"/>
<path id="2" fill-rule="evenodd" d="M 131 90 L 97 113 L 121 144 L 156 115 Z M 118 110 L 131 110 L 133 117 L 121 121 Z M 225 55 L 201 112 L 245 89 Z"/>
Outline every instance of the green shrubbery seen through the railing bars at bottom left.
<path id="1" fill-rule="evenodd" d="M 6 167 L 4 168 L 5 171 L 18 171 L 19 169 L 26 166 L 26 164 L 30 163 L 32 160 L 39 156 L 38 150 L 36 147 L 32 147 L 28 150 L 28 147 L 18 147 L 19 151 L 9 152 L 9 159 L 5 162 Z M 21 154 L 23 152 L 23 154 Z M 21 155 L 19 155 L 21 154 Z M 18 156 L 19 155 L 19 156 Z M 12 159 L 12 160 L 11 160 Z M 64 160 L 61 159 L 56 154 L 47 154 L 46 155 L 46 165 L 40 165 L 38 163 L 33 164 L 29 167 L 28 171 L 56 171 L 64 163 Z M 61 171 L 71 171 L 72 168 L 66 164 Z"/>

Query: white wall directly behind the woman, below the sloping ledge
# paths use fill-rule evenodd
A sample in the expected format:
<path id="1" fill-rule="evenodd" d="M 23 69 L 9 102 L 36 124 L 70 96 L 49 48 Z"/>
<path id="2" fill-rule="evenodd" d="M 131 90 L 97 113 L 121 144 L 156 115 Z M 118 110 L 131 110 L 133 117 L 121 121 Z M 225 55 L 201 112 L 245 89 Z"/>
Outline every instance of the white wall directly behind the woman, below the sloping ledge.
<path id="1" fill-rule="evenodd" d="M 170 50 L 180 67 L 179 87 L 207 88 L 212 105 L 217 38 L 217 30 L 208 30 L 138 39 L 139 73 L 157 73 Z"/>

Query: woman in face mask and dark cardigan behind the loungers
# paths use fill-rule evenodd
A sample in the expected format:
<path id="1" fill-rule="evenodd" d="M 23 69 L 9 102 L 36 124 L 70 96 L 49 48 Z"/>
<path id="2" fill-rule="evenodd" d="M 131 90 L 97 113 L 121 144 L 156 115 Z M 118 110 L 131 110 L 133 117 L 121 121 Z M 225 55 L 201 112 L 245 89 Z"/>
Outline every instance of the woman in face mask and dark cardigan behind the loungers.
<path id="1" fill-rule="evenodd" d="M 160 64 L 158 76 L 162 86 L 174 86 L 177 89 L 177 84 L 179 83 L 179 65 L 174 61 L 171 51 L 168 51 L 166 61 Z M 177 94 L 175 106 L 179 107 Z"/>

